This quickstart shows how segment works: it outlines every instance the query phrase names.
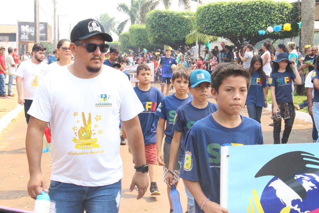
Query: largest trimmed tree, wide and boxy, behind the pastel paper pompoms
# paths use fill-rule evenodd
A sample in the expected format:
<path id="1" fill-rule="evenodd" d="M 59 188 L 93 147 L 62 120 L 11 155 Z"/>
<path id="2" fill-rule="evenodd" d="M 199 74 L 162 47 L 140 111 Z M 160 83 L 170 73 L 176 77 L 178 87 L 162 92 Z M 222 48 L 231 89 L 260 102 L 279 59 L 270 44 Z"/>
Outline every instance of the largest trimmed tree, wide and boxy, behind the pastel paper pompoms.
<path id="1" fill-rule="evenodd" d="M 200 33 L 224 37 L 241 46 L 247 41 L 252 45 L 264 39 L 284 39 L 297 36 L 298 9 L 284 1 L 245 0 L 231 2 L 215 2 L 204 4 L 197 8 L 196 21 L 201 27 Z M 267 27 L 291 24 L 291 31 L 269 33 Z M 265 35 L 259 35 L 258 30 L 266 30 Z"/>

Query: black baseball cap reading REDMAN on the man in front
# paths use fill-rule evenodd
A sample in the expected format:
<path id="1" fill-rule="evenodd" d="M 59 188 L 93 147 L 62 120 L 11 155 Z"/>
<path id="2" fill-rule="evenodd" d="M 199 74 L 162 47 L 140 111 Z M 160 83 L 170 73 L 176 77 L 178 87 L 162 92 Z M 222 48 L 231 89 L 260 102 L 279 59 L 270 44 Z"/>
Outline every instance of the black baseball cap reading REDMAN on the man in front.
<path id="1" fill-rule="evenodd" d="M 103 36 L 106 42 L 112 42 L 113 38 L 104 32 L 104 27 L 94 19 L 85 19 L 76 24 L 70 35 L 71 42 L 90 38 L 93 35 Z"/>

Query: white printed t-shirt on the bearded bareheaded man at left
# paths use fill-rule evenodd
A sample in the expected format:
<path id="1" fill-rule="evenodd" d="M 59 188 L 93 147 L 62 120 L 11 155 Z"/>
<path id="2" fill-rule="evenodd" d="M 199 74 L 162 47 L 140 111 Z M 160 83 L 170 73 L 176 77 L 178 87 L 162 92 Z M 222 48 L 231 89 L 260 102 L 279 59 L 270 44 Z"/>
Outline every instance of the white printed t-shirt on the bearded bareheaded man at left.
<path id="1" fill-rule="evenodd" d="M 31 60 L 21 62 L 16 75 L 23 78 L 24 99 L 33 100 L 35 91 L 38 88 L 47 67 L 48 64 L 45 62 L 41 62 L 40 64 L 33 64 Z"/>

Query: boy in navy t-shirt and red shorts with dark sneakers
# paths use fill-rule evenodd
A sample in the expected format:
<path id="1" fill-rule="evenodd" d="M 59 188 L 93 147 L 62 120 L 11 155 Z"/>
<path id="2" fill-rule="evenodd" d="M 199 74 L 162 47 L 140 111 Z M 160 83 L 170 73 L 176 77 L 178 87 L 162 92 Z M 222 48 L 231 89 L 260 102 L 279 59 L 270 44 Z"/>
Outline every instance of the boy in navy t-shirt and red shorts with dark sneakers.
<path id="1" fill-rule="evenodd" d="M 151 180 L 151 195 L 160 195 L 156 184 L 157 179 L 157 152 L 156 152 L 156 127 L 158 118 L 155 117 L 155 110 L 162 101 L 163 95 L 159 89 L 150 85 L 152 74 L 150 67 L 146 64 L 138 65 L 136 69 L 136 79 L 139 81 L 134 91 L 138 99 L 144 106 L 144 111 L 138 114 L 141 123 L 144 144 L 145 157 L 148 165 L 148 171 Z M 133 159 L 134 162 L 134 159 Z"/>

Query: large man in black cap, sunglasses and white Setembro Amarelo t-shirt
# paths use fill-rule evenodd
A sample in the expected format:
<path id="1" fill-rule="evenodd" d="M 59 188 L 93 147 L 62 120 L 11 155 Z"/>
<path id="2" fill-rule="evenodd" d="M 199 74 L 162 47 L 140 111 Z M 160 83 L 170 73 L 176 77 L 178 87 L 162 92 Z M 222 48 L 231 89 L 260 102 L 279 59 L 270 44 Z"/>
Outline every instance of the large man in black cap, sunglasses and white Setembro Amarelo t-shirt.
<path id="1" fill-rule="evenodd" d="M 127 76 L 103 65 L 112 37 L 94 19 L 74 26 L 70 35 L 74 63 L 44 76 L 26 133 L 30 180 L 35 199 L 49 192 L 56 212 L 118 212 L 123 165 L 119 153 L 122 120 L 135 161 L 130 192 L 137 199 L 148 188 L 143 133 L 138 114 L 144 111 Z M 41 173 L 43 132 L 51 124 L 52 173 L 47 189 Z"/>

